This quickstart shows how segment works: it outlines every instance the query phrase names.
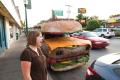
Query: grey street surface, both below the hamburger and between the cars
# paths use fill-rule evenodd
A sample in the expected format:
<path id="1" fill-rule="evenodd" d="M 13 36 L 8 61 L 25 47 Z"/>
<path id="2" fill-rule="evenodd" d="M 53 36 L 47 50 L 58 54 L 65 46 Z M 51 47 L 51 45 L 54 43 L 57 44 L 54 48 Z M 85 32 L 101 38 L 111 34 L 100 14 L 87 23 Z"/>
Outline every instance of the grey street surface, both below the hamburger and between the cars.
<path id="1" fill-rule="evenodd" d="M 90 51 L 90 60 L 88 65 L 91 64 L 92 61 L 97 59 L 100 56 L 109 54 L 109 53 L 116 53 L 120 52 L 120 39 L 112 38 L 110 39 L 110 45 L 105 49 L 94 49 Z M 53 72 L 49 71 L 53 80 L 84 80 L 85 70 L 87 65 L 76 68 L 73 70 L 65 71 L 65 72 Z"/>

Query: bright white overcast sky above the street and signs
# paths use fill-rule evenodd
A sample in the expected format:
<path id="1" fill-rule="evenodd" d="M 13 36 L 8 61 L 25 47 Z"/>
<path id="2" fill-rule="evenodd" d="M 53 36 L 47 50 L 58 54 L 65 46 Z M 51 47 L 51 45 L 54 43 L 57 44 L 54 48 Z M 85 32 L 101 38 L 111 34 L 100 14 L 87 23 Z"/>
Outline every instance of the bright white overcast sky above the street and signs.
<path id="1" fill-rule="evenodd" d="M 20 0 L 15 0 L 18 6 L 22 5 Z M 31 0 L 32 9 L 27 10 L 28 25 L 36 25 L 41 20 L 51 18 L 52 10 L 63 10 L 67 18 L 68 6 L 71 5 L 69 18 L 75 19 L 78 14 L 78 8 L 86 8 L 85 16 L 98 16 L 99 19 L 108 19 L 110 15 L 120 14 L 120 0 Z M 21 18 L 25 18 L 23 7 L 20 9 Z"/>

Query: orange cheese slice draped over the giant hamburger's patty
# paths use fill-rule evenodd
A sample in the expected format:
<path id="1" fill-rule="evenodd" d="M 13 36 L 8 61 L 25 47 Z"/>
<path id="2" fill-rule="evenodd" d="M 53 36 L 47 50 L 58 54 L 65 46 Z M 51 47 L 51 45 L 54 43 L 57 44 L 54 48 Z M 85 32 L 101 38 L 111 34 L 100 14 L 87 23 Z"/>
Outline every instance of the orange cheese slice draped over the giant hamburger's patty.
<path id="1" fill-rule="evenodd" d="M 75 46 L 75 45 L 80 45 L 80 46 L 85 46 L 85 45 L 90 45 L 91 42 L 89 40 L 82 40 L 78 38 L 73 38 L 73 37 L 58 37 L 58 38 L 50 38 L 50 39 L 45 39 L 44 40 L 46 44 L 51 48 L 51 50 L 54 50 L 58 47 L 67 47 L 67 46 Z"/>

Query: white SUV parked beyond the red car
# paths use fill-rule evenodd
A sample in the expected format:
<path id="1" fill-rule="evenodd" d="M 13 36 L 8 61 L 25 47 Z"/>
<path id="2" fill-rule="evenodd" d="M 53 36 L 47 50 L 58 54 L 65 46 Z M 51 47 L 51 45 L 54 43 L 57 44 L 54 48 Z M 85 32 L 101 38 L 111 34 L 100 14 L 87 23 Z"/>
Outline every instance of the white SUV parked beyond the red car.
<path id="1" fill-rule="evenodd" d="M 115 36 L 114 30 L 110 28 L 97 28 L 94 32 L 96 32 L 98 36 L 104 38 L 111 38 Z"/>

